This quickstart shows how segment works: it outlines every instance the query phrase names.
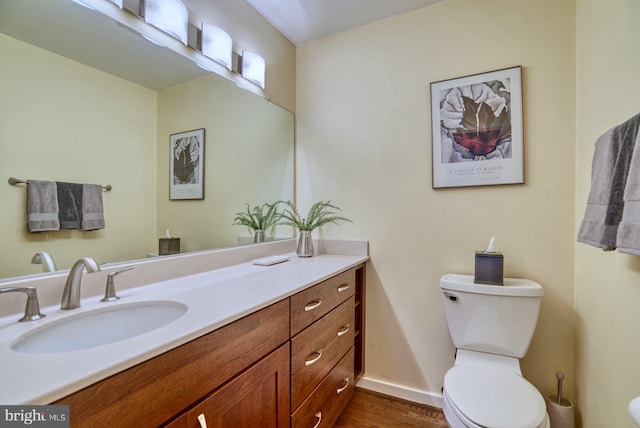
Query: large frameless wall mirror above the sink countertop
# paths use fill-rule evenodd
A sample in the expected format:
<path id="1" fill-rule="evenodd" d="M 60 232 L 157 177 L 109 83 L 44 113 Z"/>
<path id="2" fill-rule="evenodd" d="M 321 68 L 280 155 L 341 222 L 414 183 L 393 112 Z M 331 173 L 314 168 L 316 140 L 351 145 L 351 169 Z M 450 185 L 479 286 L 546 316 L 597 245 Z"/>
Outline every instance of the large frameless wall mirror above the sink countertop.
<path id="1" fill-rule="evenodd" d="M 235 246 L 245 204 L 293 200 L 291 112 L 95 10 L 0 0 L 0 56 L 0 278 L 42 272 L 39 251 L 58 269 L 142 259 L 166 229 L 183 252 Z M 170 200 L 170 136 L 200 128 L 204 199 Z M 9 177 L 110 184 L 105 229 L 29 233 Z"/>

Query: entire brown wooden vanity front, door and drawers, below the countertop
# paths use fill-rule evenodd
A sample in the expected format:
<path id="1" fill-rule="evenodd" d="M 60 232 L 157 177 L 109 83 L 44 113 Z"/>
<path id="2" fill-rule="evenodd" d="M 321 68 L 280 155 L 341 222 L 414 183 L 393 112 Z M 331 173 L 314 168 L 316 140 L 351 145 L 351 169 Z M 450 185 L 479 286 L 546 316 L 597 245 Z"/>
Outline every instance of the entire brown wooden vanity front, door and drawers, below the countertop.
<path id="1" fill-rule="evenodd" d="M 364 370 L 365 265 L 77 391 L 72 427 L 331 427 Z"/>

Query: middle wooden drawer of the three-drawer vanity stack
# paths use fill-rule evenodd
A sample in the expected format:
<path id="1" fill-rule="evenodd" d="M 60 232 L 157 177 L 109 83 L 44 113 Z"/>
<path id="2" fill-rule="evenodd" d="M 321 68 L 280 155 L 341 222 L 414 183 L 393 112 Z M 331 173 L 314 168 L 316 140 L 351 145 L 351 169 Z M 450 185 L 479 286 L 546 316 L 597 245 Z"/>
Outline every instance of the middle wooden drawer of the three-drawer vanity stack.
<path id="1" fill-rule="evenodd" d="M 291 339 L 291 406 L 298 407 L 353 347 L 354 297 Z"/>

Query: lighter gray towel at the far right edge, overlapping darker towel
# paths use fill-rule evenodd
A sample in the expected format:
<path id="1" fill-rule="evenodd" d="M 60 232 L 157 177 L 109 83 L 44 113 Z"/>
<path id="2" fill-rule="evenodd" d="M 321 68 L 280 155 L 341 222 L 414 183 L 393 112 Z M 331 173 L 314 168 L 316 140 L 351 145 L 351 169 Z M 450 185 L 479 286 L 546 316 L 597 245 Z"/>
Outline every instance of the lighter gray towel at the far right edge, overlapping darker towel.
<path id="1" fill-rule="evenodd" d="M 640 132 L 636 135 L 624 189 L 624 210 L 618 226 L 617 244 L 621 253 L 640 256 Z"/>

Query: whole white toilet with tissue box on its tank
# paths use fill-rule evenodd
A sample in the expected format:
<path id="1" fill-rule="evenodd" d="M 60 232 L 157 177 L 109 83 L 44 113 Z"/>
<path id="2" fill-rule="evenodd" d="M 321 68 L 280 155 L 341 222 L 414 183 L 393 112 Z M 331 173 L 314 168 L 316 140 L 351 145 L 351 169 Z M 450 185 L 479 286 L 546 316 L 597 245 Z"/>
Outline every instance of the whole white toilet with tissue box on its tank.
<path id="1" fill-rule="evenodd" d="M 452 428 L 549 428 L 546 404 L 520 370 L 538 321 L 542 286 L 506 278 L 475 284 L 440 280 L 455 365 L 444 378 L 443 410 Z"/>

